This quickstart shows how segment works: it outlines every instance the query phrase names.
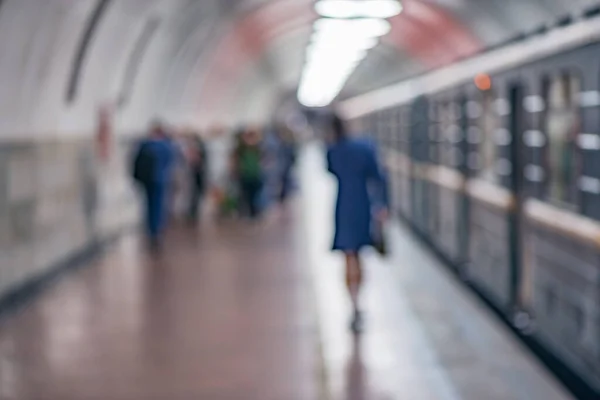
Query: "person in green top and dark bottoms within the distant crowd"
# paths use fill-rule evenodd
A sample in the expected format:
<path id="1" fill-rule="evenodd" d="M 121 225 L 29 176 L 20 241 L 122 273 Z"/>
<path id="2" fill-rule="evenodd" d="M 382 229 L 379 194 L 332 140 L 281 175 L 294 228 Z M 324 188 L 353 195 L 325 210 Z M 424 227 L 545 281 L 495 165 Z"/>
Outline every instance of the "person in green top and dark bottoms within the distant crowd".
<path id="1" fill-rule="evenodd" d="M 263 186 L 263 152 L 260 135 L 250 129 L 242 134 L 235 152 L 235 166 L 242 199 L 250 218 L 259 215 L 259 199 Z"/>

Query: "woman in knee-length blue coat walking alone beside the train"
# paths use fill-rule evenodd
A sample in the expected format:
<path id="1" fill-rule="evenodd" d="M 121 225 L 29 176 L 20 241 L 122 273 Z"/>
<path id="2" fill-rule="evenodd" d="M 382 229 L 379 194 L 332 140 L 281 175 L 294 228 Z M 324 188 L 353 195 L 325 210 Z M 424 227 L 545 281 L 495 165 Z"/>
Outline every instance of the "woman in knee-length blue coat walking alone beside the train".
<path id="1" fill-rule="evenodd" d="M 360 250 L 373 245 L 373 214 L 387 217 L 387 185 L 375 147 L 366 140 L 349 138 L 344 122 L 333 117 L 333 144 L 327 164 L 338 181 L 333 249 L 346 256 L 346 285 L 352 300 L 351 328 L 362 329 L 358 295 L 362 283 Z"/>

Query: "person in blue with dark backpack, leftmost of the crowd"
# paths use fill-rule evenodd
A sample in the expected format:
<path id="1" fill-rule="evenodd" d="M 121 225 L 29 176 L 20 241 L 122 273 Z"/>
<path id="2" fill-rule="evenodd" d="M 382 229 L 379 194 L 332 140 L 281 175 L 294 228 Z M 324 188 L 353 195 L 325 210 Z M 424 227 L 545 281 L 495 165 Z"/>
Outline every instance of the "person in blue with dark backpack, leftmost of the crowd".
<path id="1" fill-rule="evenodd" d="M 144 191 L 146 233 L 153 249 L 160 245 L 168 213 L 169 189 L 176 150 L 160 122 L 154 122 L 148 137 L 138 146 L 133 177 Z"/>

